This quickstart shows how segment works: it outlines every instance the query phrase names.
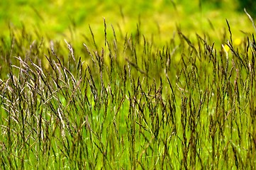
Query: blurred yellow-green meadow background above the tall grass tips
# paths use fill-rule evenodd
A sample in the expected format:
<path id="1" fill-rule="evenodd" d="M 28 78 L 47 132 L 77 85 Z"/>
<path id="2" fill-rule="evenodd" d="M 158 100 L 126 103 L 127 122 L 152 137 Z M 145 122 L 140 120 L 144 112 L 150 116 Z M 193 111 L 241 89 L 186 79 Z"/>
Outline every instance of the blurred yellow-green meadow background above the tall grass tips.
<path id="1" fill-rule="evenodd" d="M 167 40 L 179 26 L 189 35 L 207 33 L 218 38 L 230 23 L 233 34 L 252 33 L 252 23 L 243 8 L 254 16 L 252 0 L 1 0 L 0 35 L 9 37 L 11 30 L 26 31 L 48 40 L 84 40 L 90 37 L 89 25 L 96 40 L 104 39 L 104 22 L 120 35 L 135 33 L 137 26 L 144 35 L 159 35 Z M 111 29 L 108 29 L 108 31 Z"/>

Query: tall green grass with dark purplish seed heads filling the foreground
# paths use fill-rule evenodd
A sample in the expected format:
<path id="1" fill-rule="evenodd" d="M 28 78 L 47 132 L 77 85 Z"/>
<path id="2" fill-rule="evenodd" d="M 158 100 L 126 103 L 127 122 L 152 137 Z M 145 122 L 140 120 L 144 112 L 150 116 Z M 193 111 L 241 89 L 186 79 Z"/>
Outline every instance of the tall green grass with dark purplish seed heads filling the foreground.
<path id="1" fill-rule="evenodd" d="M 255 169 L 253 35 L 177 28 L 159 47 L 104 28 L 81 49 L 1 38 L 1 169 Z"/>

